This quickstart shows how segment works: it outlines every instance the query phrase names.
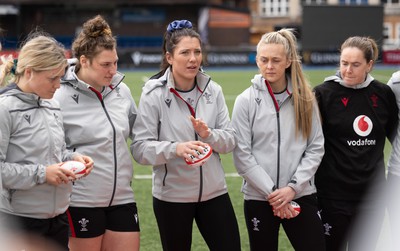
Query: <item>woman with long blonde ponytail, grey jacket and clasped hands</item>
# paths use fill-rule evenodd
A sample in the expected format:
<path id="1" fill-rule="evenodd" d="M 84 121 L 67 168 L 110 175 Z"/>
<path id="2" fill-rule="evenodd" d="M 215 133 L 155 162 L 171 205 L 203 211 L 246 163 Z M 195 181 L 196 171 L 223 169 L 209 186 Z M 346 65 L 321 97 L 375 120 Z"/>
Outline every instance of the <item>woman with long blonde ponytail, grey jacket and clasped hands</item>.
<path id="1" fill-rule="evenodd" d="M 282 224 L 296 250 L 324 250 L 314 185 L 324 138 L 292 31 L 265 34 L 256 60 L 261 74 L 237 97 L 232 114 L 250 248 L 278 250 Z"/>

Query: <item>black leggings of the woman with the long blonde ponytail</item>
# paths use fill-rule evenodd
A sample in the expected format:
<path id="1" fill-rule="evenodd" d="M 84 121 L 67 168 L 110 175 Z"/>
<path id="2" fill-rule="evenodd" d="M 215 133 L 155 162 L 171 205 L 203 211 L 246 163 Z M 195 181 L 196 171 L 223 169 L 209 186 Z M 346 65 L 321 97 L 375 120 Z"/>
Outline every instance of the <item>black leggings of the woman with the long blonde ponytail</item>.
<path id="1" fill-rule="evenodd" d="M 296 251 L 324 251 L 325 240 L 318 215 L 317 198 L 308 195 L 295 200 L 301 212 L 293 219 L 274 216 L 267 201 L 245 200 L 244 214 L 250 250 L 278 250 L 279 228 L 282 224 Z"/>

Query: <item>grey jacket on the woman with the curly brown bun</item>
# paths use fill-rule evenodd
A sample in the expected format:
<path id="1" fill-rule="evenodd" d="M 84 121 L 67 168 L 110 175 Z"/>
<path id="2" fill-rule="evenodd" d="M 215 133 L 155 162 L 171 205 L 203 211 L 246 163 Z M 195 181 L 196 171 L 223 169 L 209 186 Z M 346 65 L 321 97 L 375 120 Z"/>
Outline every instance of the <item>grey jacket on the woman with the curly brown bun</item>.
<path id="1" fill-rule="evenodd" d="M 117 73 L 101 93 L 79 80 L 72 64 L 54 98 L 60 102 L 67 148 L 90 156 L 92 172 L 74 182 L 73 207 L 107 207 L 134 202 L 132 138 L 136 104 Z"/>

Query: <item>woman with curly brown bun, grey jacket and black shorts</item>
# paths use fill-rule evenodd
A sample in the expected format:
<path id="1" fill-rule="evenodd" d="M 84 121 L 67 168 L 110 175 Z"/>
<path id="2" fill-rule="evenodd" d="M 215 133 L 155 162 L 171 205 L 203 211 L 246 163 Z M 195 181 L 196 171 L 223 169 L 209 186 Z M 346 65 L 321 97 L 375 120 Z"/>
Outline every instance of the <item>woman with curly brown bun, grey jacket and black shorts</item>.
<path id="1" fill-rule="evenodd" d="M 116 40 L 101 16 L 86 21 L 55 98 L 68 149 L 90 154 L 91 177 L 74 183 L 67 211 L 74 250 L 139 250 L 139 220 L 127 146 L 136 105 L 117 71 Z"/>

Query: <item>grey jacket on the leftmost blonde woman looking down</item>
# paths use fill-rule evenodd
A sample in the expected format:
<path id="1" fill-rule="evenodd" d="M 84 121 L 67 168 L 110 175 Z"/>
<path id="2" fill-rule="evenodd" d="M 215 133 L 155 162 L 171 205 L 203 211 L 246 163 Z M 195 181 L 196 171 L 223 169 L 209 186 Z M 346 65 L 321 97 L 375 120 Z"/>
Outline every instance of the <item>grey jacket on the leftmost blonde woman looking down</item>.
<path id="1" fill-rule="evenodd" d="M 71 183 L 46 183 L 46 166 L 74 157 L 66 150 L 58 103 L 12 84 L 0 95 L 0 131 L 0 211 L 37 219 L 64 213 Z"/>

